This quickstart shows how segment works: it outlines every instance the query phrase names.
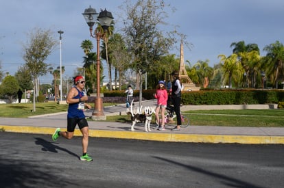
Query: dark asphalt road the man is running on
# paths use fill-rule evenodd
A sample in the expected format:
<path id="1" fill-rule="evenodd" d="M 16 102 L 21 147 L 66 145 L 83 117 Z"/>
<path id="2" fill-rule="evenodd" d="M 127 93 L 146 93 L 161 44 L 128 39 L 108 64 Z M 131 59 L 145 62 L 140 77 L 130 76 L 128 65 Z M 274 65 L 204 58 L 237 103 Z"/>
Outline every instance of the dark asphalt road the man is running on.
<path id="1" fill-rule="evenodd" d="M 89 140 L 0 132 L 1 187 L 284 187 L 283 145 Z"/>

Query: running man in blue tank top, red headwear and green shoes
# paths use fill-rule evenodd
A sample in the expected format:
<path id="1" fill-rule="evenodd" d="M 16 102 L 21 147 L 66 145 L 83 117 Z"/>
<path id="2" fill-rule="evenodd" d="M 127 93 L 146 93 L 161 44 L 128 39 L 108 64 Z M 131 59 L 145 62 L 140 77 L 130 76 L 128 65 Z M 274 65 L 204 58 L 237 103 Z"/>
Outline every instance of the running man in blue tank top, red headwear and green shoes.
<path id="1" fill-rule="evenodd" d="M 67 113 L 67 131 L 60 131 L 57 128 L 52 139 L 56 141 L 59 136 L 71 139 L 74 135 L 75 126 L 78 124 L 79 129 L 83 135 L 82 138 L 82 156 L 81 161 L 93 161 L 93 159 L 88 156 L 88 122 L 86 121 L 84 115 L 84 107 L 91 109 L 91 105 L 84 103 L 88 100 L 88 96 L 84 94 L 85 79 L 82 76 L 77 76 L 74 78 L 74 87 L 71 88 L 69 94 L 67 95 L 68 113 Z"/>

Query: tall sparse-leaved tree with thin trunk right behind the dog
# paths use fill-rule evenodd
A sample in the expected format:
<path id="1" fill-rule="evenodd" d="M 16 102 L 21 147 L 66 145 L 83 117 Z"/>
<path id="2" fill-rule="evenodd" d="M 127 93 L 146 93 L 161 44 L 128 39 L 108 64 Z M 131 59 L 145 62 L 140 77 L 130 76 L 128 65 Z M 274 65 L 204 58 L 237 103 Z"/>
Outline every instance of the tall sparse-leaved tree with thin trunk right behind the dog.
<path id="1" fill-rule="evenodd" d="M 132 54 L 132 70 L 137 72 L 138 76 L 139 105 L 142 100 L 142 75 L 152 70 L 154 64 L 166 55 L 176 42 L 174 36 L 167 35 L 159 27 L 165 23 L 166 7 L 170 5 L 165 5 L 161 0 L 137 0 L 135 3 L 126 0 L 121 6 L 126 10 L 123 31 L 126 34 L 128 50 Z"/>

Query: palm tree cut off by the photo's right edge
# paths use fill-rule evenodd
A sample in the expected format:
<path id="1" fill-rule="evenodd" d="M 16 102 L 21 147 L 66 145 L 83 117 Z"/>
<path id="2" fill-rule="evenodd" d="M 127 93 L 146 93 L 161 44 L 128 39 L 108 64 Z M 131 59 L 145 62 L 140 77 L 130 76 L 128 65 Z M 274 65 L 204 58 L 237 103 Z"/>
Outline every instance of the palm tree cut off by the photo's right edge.
<path id="1" fill-rule="evenodd" d="M 270 76 L 272 84 L 278 88 L 278 81 L 283 79 L 284 69 L 284 46 L 281 42 L 276 40 L 275 43 L 264 47 L 266 51 L 265 62 L 267 63 L 267 73 Z"/>

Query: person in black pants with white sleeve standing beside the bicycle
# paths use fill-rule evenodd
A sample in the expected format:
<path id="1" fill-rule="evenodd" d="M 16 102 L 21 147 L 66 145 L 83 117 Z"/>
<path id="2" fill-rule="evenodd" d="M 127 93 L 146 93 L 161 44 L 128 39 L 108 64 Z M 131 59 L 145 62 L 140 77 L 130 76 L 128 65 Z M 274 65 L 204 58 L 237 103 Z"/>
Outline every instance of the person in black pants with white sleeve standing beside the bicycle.
<path id="1" fill-rule="evenodd" d="M 174 71 L 171 73 L 174 81 L 171 84 L 171 101 L 174 103 L 174 111 L 176 112 L 177 125 L 171 131 L 180 131 L 181 117 L 180 117 L 180 102 L 181 102 L 181 83 L 178 77 L 178 72 Z"/>

